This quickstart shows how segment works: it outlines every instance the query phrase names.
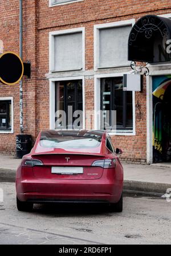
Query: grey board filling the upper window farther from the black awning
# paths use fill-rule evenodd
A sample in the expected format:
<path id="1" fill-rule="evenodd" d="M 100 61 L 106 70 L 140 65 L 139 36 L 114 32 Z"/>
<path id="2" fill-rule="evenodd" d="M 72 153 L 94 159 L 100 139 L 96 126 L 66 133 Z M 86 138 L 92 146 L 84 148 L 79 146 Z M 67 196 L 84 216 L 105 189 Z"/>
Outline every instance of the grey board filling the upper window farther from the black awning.
<path id="1" fill-rule="evenodd" d="M 80 70 L 83 68 L 82 32 L 55 35 L 54 47 L 55 71 Z"/>

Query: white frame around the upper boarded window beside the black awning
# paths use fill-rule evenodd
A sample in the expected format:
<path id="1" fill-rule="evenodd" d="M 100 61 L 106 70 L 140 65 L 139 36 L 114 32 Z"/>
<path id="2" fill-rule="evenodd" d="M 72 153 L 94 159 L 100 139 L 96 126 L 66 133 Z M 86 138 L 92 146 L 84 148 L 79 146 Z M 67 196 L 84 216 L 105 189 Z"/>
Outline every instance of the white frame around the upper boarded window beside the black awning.
<path id="1" fill-rule="evenodd" d="M 97 58 L 99 57 L 99 30 L 105 29 L 109 27 L 122 27 L 127 25 L 135 25 L 135 19 L 127 19 L 125 21 L 117 21 L 111 23 L 103 23 L 94 25 L 94 70 L 101 70 L 101 69 L 112 69 L 114 67 L 128 67 L 128 65 L 117 65 L 113 67 L 97 67 Z"/>

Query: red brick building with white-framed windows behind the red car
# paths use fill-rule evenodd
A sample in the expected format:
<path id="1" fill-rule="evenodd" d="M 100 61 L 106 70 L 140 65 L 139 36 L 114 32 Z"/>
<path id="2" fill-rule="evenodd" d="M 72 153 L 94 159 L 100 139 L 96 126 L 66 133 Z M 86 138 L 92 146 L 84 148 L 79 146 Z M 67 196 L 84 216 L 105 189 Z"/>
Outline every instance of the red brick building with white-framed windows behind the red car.
<path id="1" fill-rule="evenodd" d="M 19 0 L 2 0 L 0 13 L 3 51 L 19 53 Z M 31 79 L 23 78 L 24 133 L 35 139 L 40 130 L 60 128 L 55 111 L 68 105 L 83 110 L 83 128 L 100 129 L 88 111 L 109 104 L 117 110 L 111 137 L 122 158 L 152 162 L 152 79 L 171 74 L 170 63 L 150 68 L 143 92 L 122 90 L 123 74 L 131 71 L 128 36 L 147 14 L 171 18 L 170 1 L 23 1 L 23 61 L 31 62 Z M 0 106 L 0 151 L 13 154 L 20 133 L 19 85 L 0 84 Z"/>

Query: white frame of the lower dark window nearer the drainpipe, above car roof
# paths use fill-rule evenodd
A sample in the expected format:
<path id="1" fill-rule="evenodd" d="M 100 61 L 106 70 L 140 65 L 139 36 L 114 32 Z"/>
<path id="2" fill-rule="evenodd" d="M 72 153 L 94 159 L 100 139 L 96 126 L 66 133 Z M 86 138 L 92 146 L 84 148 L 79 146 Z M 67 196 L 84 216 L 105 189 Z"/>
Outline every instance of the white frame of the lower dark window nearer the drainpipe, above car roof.
<path id="1" fill-rule="evenodd" d="M 55 82 L 82 80 L 83 86 L 83 129 L 86 129 L 86 105 L 85 105 L 85 80 L 83 76 L 80 77 L 61 77 L 50 78 L 50 130 L 55 130 Z M 56 129 L 59 130 L 59 129 Z"/>

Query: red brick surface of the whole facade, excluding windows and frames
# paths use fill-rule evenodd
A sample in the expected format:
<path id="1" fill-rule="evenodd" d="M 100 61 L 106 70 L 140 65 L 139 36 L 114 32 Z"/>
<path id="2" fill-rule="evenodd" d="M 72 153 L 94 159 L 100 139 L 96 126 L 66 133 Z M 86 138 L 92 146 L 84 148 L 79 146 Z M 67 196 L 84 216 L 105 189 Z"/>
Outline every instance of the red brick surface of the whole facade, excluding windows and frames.
<path id="1" fill-rule="evenodd" d="M 5 51 L 19 53 L 19 1 L 2 0 L 0 27 Z M 35 139 L 40 130 L 49 128 L 49 32 L 86 28 L 86 70 L 93 70 L 93 26 L 95 24 L 140 18 L 146 14 L 171 13 L 170 0 L 84 0 L 48 7 L 48 0 L 23 1 L 23 61 L 31 61 L 31 79 L 23 79 L 25 133 Z M 93 110 L 93 77 L 85 79 L 86 110 Z M 14 134 L 0 134 L 0 152 L 14 154 L 15 135 L 19 133 L 19 85 L 0 84 L 0 97 L 14 97 Z M 86 120 L 86 128 L 93 125 Z M 112 137 L 124 151 L 126 161 L 146 159 L 146 83 L 136 93 L 136 136 Z"/>

